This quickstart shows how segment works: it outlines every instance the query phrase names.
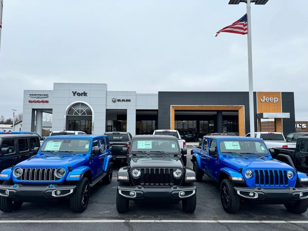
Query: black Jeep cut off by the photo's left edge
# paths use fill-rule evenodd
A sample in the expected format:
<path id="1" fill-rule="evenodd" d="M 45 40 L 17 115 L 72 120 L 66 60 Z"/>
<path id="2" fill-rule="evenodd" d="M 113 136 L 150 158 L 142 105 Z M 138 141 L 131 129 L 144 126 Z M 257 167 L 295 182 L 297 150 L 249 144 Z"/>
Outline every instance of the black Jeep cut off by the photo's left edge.
<path id="1" fill-rule="evenodd" d="M 36 147 L 40 147 L 37 135 L 0 134 L 0 172 L 33 156 Z"/>

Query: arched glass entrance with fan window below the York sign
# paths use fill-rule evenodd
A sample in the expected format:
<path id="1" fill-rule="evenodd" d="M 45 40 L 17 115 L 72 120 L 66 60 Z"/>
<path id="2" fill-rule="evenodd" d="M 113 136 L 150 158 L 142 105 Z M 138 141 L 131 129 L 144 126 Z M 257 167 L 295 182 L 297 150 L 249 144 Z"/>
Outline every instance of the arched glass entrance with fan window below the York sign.
<path id="1" fill-rule="evenodd" d="M 85 102 L 72 103 L 66 110 L 67 131 L 82 131 L 92 134 L 93 110 Z"/>

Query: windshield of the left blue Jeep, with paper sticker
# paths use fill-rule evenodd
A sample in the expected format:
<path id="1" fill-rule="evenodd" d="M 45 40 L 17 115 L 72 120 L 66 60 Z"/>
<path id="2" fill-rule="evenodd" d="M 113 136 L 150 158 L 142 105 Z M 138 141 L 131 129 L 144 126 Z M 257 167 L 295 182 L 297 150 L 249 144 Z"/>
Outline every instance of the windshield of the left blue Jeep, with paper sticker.
<path id="1" fill-rule="evenodd" d="M 76 153 L 85 153 L 89 152 L 89 148 L 89 139 L 46 139 L 40 149 L 40 152 L 70 151 Z"/>

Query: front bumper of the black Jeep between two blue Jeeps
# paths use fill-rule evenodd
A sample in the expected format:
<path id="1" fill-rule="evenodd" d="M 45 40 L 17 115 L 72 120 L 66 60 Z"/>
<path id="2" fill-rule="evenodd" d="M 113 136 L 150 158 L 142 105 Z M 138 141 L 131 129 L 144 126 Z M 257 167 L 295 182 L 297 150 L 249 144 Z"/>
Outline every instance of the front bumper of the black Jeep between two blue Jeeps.
<path id="1" fill-rule="evenodd" d="M 117 191 L 131 200 L 183 200 L 196 194 L 196 186 L 118 186 Z M 130 194 L 133 192 L 132 194 Z M 184 192 L 184 195 L 181 194 Z"/>

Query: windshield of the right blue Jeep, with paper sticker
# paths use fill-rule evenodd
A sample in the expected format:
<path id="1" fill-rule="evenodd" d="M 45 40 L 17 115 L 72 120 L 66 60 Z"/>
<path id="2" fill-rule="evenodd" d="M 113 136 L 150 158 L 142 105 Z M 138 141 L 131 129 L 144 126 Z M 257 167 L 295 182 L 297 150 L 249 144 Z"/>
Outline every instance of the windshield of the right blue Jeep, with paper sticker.
<path id="1" fill-rule="evenodd" d="M 219 149 L 221 153 L 268 154 L 268 149 L 265 144 L 258 140 L 220 140 Z"/>

